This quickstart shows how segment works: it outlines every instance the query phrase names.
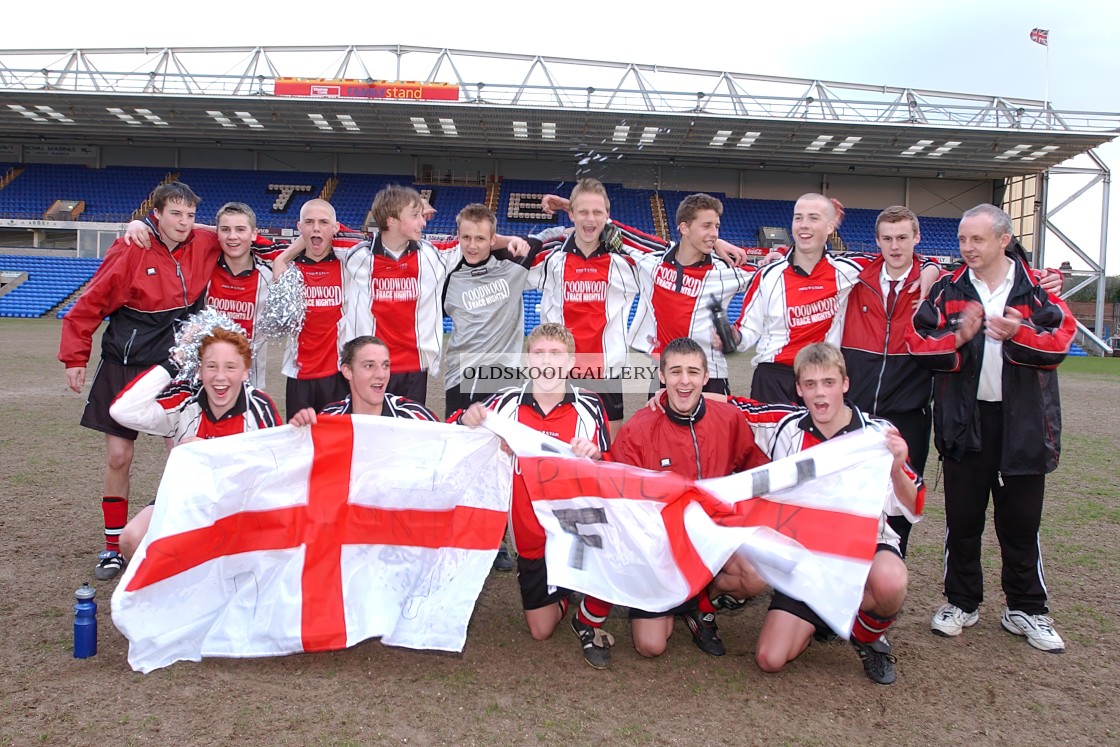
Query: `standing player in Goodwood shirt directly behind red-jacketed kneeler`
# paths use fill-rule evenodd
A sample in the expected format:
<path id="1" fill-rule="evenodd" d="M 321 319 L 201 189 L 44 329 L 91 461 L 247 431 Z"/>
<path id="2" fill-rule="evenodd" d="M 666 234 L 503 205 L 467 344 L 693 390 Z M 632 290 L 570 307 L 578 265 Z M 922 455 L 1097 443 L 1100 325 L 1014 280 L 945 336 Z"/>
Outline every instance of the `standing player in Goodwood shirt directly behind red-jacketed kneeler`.
<path id="1" fill-rule="evenodd" d="M 725 311 L 731 298 L 746 289 L 754 270 L 712 256 L 719 241 L 724 204 L 710 195 L 689 195 L 676 208 L 681 240 L 664 252 L 627 248 L 638 271 L 641 300 L 631 325 L 631 345 L 654 360 L 678 337 L 694 339 L 710 363 L 706 392 L 730 394 L 727 358 L 712 348 L 712 307 Z M 651 394 L 657 382 L 652 384 Z"/>

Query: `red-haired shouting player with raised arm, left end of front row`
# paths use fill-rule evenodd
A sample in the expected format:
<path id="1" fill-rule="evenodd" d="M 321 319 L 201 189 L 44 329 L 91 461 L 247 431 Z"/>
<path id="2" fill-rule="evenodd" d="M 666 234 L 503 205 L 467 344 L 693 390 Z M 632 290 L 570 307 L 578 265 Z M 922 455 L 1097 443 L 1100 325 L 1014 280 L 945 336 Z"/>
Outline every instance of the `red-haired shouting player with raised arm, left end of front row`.
<path id="1" fill-rule="evenodd" d="M 222 327 L 198 346 L 199 382 L 174 381 L 178 365 L 164 361 L 118 395 L 110 414 L 125 428 L 170 438 L 175 446 L 280 424 L 272 399 L 249 383 L 249 340 Z M 121 533 L 121 554 L 131 558 L 151 523 L 152 501 Z"/>

